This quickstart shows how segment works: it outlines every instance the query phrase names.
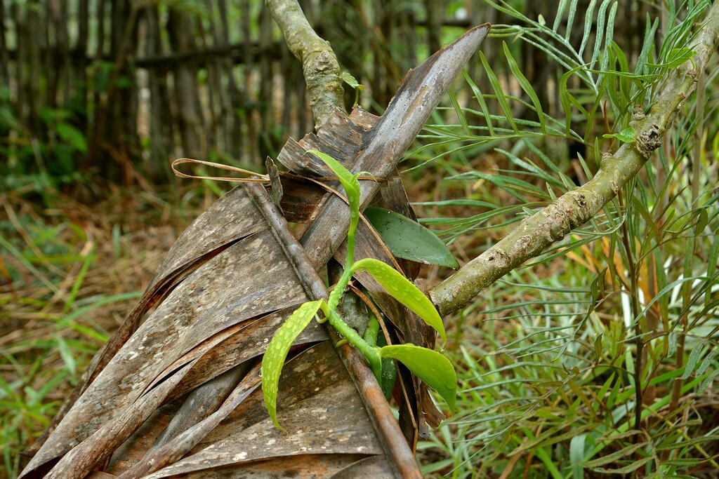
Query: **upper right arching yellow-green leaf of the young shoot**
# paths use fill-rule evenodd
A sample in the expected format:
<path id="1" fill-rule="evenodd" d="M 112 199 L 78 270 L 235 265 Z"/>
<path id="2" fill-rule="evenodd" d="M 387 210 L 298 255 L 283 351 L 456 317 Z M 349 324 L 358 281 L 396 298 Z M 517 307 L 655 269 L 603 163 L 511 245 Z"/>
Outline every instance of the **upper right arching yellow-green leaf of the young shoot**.
<path id="1" fill-rule="evenodd" d="M 352 266 L 352 271 L 364 270 L 371 274 L 384 289 L 400 303 L 421 317 L 431 327 L 439 332 L 443 342 L 446 342 L 446 332 L 442 318 L 434 308 L 434 304 L 406 277 L 392 266 L 377 259 L 365 258 Z"/>

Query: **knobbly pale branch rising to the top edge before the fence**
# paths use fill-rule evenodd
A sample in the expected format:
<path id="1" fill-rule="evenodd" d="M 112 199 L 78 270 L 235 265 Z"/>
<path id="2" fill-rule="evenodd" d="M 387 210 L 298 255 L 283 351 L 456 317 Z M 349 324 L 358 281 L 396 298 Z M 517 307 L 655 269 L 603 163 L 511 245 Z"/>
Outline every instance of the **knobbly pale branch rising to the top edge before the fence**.
<path id="1" fill-rule="evenodd" d="M 336 108 L 344 111 L 342 70 L 337 57 L 329 42 L 321 39 L 307 22 L 297 0 L 265 0 L 265 5 L 280 26 L 290 52 L 302 62 L 315 129 L 319 129 Z"/>

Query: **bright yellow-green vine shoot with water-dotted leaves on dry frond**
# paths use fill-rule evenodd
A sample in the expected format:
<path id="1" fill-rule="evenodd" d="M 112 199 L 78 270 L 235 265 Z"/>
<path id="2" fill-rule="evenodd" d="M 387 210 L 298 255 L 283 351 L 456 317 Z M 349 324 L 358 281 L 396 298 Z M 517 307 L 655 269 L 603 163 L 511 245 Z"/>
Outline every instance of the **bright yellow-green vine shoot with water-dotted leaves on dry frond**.
<path id="1" fill-rule="evenodd" d="M 411 281 L 400 274 L 399 271 L 393 269 L 392 266 L 377 259 L 365 258 L 357 261 L 357 263 L 354 262 L 354 236 L 357 232 L 357 223 L 359 223 L 359 181 L 357 180 L 359 173 L 352 175 L 347 168 L 328 154 L 317 150 L 310 150 L 308 153 L 321 159 L 334 172 L 347 195 L 347 203 L 349 204 L 347 261 L 345 261 L 342 276 L 329 295 L 329 299 L 326 302 L 324 299 L 306 302 L 298 307 L 280 326 L 280 329 L 270 341 L 270 345 L 267 346 L 265 356 L 262 358 L 262 392 L 265 396 L 267 412 L 273 419 L 275 426 L 284 431 L 285 429 L 280 426 L 277 419 L 280 373 L 290 346 L 319 310 L 324 314 L 325 320 L 329 321 L 329 324 L 349 344 L 353 345 L 365 356 L 367 363 L 372 368 L 372 373 L 375 374 L 375 378 L 383 386 L 384 391 L 387 391 L 387 387 L 391 390 L 392 385 L 387 384 L 387 378 L 394 378 L 394 372 L 383 371 L 383 364 L 385 365 L 385 370 L 393 368 L 394 365 L 391 360 L 396 359 L 407 366 L 412 373 L 421 378 L 428 386 L 437 391 L 446 401 L 449 410 L 454 412 L 454 398 L 457 395 L 457 373 L 454 372 L 454 366 L 452 366 L 449 359 L 435 350 L 413 344 L 378 345 L 377 343 L 383 344 L 383 342 L 377 341 L 377 327 L 372 327 L 377 322 L 377 318 L 371 318 L 368 332 L 365 332 L 365 338 L 362 338 L 339 315 L 337 306 L 344 295 L 345 289 L 347 289 L 349 280 L 352 279 L 352 275 L 355 271 L 367 271 L 392 297 L 415 312 L 436 332 L 439 332 L 443 343 L 446 341 L 444 325 L 442 325 L 441 317 L 434 308 L 434 304 Z"/>

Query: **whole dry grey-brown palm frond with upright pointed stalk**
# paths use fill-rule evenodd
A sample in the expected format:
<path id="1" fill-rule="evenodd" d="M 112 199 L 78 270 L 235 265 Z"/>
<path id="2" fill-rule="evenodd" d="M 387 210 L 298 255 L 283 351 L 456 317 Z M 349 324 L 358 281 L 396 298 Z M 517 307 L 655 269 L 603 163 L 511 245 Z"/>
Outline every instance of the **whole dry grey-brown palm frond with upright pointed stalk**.
<path id="1" fill-rule="evenodd" d="M 306 149 L 386 179 L 362 182 L 362 208 L 377 196 L 408 213 L 396 165 L 487 30 L 470 30 L 412 70 L 385 116 L 334 111 L 316 135 L 290 141 L 279 157 L 297 175 L 285 184 L 286 218 L 257 185 L 203 213 L 96 355 L 22 477 L 421 477 L 413 446 L 424 419 L 436 422 L 439 413 L 408 374 L 396 390 L 400 427 L 364 358 L 347 345 L 335 350 L 324 327 L 311 325 L 280 381 L 284 434 L 262 404 L 257 365 L 299 304 L 327 296 L 317 271 L 343 256 L 347 205 L 301 180 L 329 175 Z M 300 215 L 297 191 L 314 191 L 308 197 L 317 202 Z M 288 220 L 308 223 L 301 241 Z M 358 254 L 409 273 L 413 266 L 377 248 L 375 234 L 363 227 Z M 390 340 L 434 343 L 369 279 L 357 279 L 392 320 Z"/>

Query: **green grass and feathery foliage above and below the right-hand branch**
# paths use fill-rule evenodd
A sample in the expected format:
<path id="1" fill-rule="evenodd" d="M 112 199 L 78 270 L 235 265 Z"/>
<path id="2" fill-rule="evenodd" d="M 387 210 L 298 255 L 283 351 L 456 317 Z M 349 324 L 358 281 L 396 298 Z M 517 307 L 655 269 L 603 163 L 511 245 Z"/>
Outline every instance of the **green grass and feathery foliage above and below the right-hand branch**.
<path id="1" fill-rule="evenodd" d="M 574 2 L 562 2 L 567 4 Z M 697 15 L 706 4 L 691 8 Z M 510 13 L 535 32 L 546 30 Z M 653 42 L 648 32 L 645 42 Z M 678 23 L 666 38 L 678 49 L 688 35 L 687 25 Z M 554 48 L 539 40 L 534 45 Z M 656 54 L 667 51 L 662 47 Z M 642 65 L 629 70 L 614 56 L 620 50 L 608 52 L 604 78 L 621 64 L 616 68 L 634 80 L 600 82 L 596 71 L 580 79 L 582 95 L 587 85 L 596 87 L 589 97 L 595 108 L 583 111 L 581 121 L 592 125 L 603 105 L 601 128 L 588 127 L 582 139 L 597 160 L 617 147 L 603 134 L 622 130 L 626 112 L 641 98 L 651 101 L 668 71 Z M 485 70 L 491 80 L 488 64 Z M 454 338 L 448 350 L 461 370 L 459 412 L 421 445 L 425 475 L 719 475 L 719 103 L 709 86 L 715 68 L 708 72 L 698 98 L 690 98 L 664 147 L 630 187 L 590 223 L 448 318 Z M 592 177 L 598 162 L 567 162 L 557 152 L 549 158 L 551 137 L 562 128 L 550 129 L 552 121 L 535 107 L 538 120 L 511 134 L 516 118 L 510 114 L 523 100 L 498 88 L 487 95 L 472 78 L 466 80 L 476 96 L 452 108 L 460 121 L 430 126 L 425 138 L 431 144 L 415 151 L 417 164 L 432 161 L 445 172 L 444 181 L 435 180 L 434 197 L 418 203 L 419 215 L 463 261 L 502 238 L 524 215 Z M 560 85 L 562 106 L 574 104 L 574 94 Z M 500 113 L 490 115 L 492 108 Z M 574 107 L 566 113 L 572 124 L 578 121 Z M 569 124 L 564 131 L 567 139 L 574 137 Z"/>

